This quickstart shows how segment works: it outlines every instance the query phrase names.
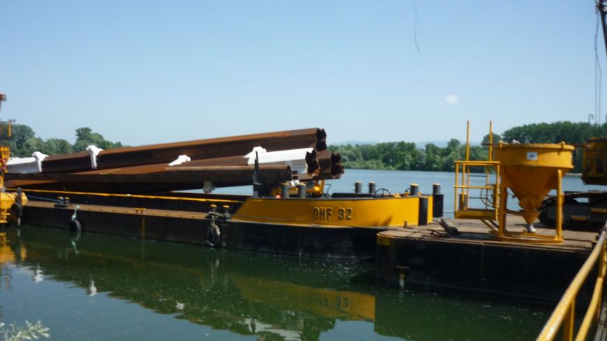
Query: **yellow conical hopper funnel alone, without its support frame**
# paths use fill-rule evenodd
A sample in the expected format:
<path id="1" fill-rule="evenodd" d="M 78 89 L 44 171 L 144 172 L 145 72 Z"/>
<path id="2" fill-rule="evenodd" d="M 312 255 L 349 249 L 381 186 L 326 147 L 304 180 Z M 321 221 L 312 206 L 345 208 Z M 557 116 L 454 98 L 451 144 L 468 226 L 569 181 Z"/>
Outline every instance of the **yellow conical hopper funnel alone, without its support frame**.
<path id="1" fill-rule="evenodd" d="M 532 224 L 539 215 L 544 197 L 558 188 L 562 175 L 573 168 L 574 146 L 568 144 L 504 144 L 495 149 L 495 160 L 500 161 L 502 190 L 510 188 L 523 209 L 523 218 Z"/>

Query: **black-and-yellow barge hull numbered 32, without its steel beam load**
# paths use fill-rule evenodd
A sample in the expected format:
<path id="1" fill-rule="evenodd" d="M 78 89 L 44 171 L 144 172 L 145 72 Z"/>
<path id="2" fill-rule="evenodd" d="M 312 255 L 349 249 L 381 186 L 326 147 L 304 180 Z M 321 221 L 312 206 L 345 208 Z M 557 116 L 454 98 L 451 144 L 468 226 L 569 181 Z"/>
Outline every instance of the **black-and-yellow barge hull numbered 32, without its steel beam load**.
<path id="1" fill-rule="evenodd" d="M 277 198 L 25 192 L 29 204 L 23 222 L 28 225 L 304 257 L 374 258 L 378 232 L 433 219 L 433 196 L 421 194 Z"/>

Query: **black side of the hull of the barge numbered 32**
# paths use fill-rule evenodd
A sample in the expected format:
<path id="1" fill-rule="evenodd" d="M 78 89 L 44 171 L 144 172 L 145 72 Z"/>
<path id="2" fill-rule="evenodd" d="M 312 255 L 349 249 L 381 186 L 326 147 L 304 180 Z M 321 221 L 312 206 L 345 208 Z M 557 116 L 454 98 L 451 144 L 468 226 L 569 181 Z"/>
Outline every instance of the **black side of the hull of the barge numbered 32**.
<path id="1" fill-rule="evenodd" d="M 25 206 L 22 222 L 24 225 L 74 229 L 73 224 L 70 224 L 73 212 L 73 207 Z M 82 233 L 115 234 L 207 247 L 212 244 L 216 248 L 338 259 L 375 258 L 376 235 L 384 230 L 218 220 L 220 238 L 213 240 L 209 233 L 211 221 L 188 217 L 187 212 L 183 212 L 181 217 L 178 212 L 167 217 L 80 209 L 77 211 L 77 220 L 82 226 Z"/>

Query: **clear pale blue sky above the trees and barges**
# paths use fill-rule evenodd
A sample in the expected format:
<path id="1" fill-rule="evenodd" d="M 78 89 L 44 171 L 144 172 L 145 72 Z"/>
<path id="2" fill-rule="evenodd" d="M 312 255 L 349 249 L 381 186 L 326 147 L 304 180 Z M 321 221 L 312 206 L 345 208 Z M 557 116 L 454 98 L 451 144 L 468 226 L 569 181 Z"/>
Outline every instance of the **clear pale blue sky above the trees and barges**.
<path id="1" fill-rule="evenodd" d="M 480 140 L 490 119 L 587 121 L 595 25 L 592 0 L 3 0 L 1 117 L 130 145 L 309 127 L 445 141 L 467 119 Z"/>

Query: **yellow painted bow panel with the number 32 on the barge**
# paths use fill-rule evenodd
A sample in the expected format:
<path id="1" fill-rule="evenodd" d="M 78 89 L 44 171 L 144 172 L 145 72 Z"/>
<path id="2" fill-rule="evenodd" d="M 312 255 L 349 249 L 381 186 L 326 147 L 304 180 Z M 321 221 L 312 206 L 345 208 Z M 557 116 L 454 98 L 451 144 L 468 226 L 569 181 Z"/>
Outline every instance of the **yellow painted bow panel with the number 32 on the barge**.
<path id="1" fill-rule="evenodd" d="M 432 221 L 428 197 L 428 222 Z M 418 225 L 419 197 L 356 199 L 249 198 L 233 220 L 327 227 Z"/>

